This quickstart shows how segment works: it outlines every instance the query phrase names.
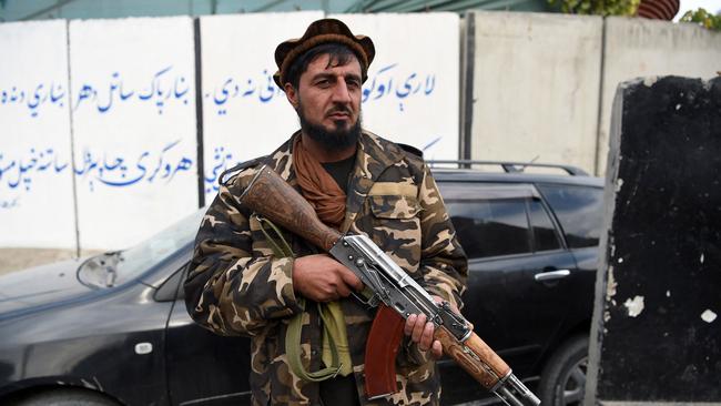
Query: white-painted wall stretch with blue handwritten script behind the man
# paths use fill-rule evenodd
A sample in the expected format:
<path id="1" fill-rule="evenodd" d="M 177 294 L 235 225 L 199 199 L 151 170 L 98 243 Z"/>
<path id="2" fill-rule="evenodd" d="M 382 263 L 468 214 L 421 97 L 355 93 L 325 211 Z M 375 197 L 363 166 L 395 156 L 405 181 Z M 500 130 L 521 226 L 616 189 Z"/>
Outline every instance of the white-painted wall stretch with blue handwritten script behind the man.
<path id="1" fill-rule="evenodd" d="M 364 87 L 365 126 L 423 149 L 430 159 L 457 158 L 458 16 L 337 17 L 354 32 L 372 35 L 377 47 Z M 277 69 L 273 51 L 321 18 L 322 12 L 295 12 L 200 19 L 206 201 L 216 193 L 223 170 L 272 152 L 298 129 L 295 112 L 272 81 Z M 0 139 L 0 219 L 13 231 L 3 235 L 2 246 L 75 248 L 77 241 L 82 250 L 123 248 L 196 209 L 192 19 L 0 28 L 7 32 L 0 37 L 2 51 L 14 57 L 0 67 L 0 84 L 29 94 L 38 83 L 54 81 L 64 87 L 65 97 L 38 108 L 38 118 L 29 118 L 34 108 L 0 105 L 0 114 L 8 118 Z M 22 52 L 28 49 L 38 52 Z M 26 114 L 17 114 L 18 109 Z M 24 143 L 12 140 L 21 136 Z M 40 149 L 49 148 L 64 164 L 52 175 L 37 169 L 49 159 Z M 21 173 L 21 162 L 33 162 L 32 168 Z M 41 183 L 45 177 L 47 185 Z M 47 232 L 44 224 L 51 221 L 54 227 Z"/>

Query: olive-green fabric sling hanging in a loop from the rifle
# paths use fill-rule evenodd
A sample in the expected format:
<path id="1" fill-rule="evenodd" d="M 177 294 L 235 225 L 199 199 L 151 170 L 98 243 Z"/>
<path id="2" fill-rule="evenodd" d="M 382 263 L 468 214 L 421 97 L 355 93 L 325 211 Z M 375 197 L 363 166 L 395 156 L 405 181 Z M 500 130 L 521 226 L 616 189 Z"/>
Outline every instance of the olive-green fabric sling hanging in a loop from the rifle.
<path id="1" fill-rule="evenodd" d="M 261 225 L 263 235 L 265 235 L 266 241 L 271 245 L 273 254 L 276 257 L 294 257 L 291 245 L 283 237 L 281 230 L 265 217 L 260 215 L 255 215 L 255 217 Z M 271 236 L 270 232 L 273 232 L 275 237 Z M 305 309 L 305 300 L 303 297 L 298 297 L 298 305 Z M 306 313 L 305 311 L 291 318 L 285 333 L 285 354 L 287 355 L 288 366 L 295 376 L 306 382 L 322 382 L 333 378 L 338 374 L 346 376 L 353 372 L 351 353 L 348 352 L 348 338 L 345 331 L 345 318 L 341 304 L 337 302 L 327 304 L 318 303 L 317 306 L 318 315 L 323 321 L 322 359 L 327 367 L 316 372 L 307 372 L 303 366 L 301 357 L 301 333 L 303 331 L 303 315 Z M 341 346 L 341 351 L 338 351 L 338 346 Z"/>

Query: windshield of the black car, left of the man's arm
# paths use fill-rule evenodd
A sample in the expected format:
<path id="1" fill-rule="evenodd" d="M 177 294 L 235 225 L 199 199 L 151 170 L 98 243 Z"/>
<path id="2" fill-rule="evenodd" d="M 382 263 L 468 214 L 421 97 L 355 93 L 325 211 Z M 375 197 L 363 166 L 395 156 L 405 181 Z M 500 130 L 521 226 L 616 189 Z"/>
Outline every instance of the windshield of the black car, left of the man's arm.
<path id="1" fill-rule="evenodd" d="M 112 287 L 142 275 L 191 243 L 204 213 L 201 209 L 131 248 L 89 258 L 78 278 L 91 287 Z"/>

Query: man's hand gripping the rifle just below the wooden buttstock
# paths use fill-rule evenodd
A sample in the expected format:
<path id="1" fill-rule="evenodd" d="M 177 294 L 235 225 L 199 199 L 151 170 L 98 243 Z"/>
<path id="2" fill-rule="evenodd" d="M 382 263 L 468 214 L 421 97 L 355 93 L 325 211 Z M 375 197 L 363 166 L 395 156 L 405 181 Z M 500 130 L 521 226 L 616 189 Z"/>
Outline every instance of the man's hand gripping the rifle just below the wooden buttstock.
<path id="1" fill-rule="evenodd" d="M 293 261 L 293 286 L 315 302 L 332 302 L 363 290 L 363 282 L 351 270 L 326 254 Z"/>

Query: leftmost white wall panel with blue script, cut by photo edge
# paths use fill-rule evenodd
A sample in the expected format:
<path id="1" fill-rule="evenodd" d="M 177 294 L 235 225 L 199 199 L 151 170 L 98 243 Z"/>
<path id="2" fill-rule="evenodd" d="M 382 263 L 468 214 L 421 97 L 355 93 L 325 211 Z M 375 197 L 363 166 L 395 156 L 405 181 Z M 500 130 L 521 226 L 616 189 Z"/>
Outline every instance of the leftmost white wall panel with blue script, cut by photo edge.
<path id="1" fill-rule="evenodd" d="M 65 21 L 0 24 L 0 246 L 75 248 Z"/>

